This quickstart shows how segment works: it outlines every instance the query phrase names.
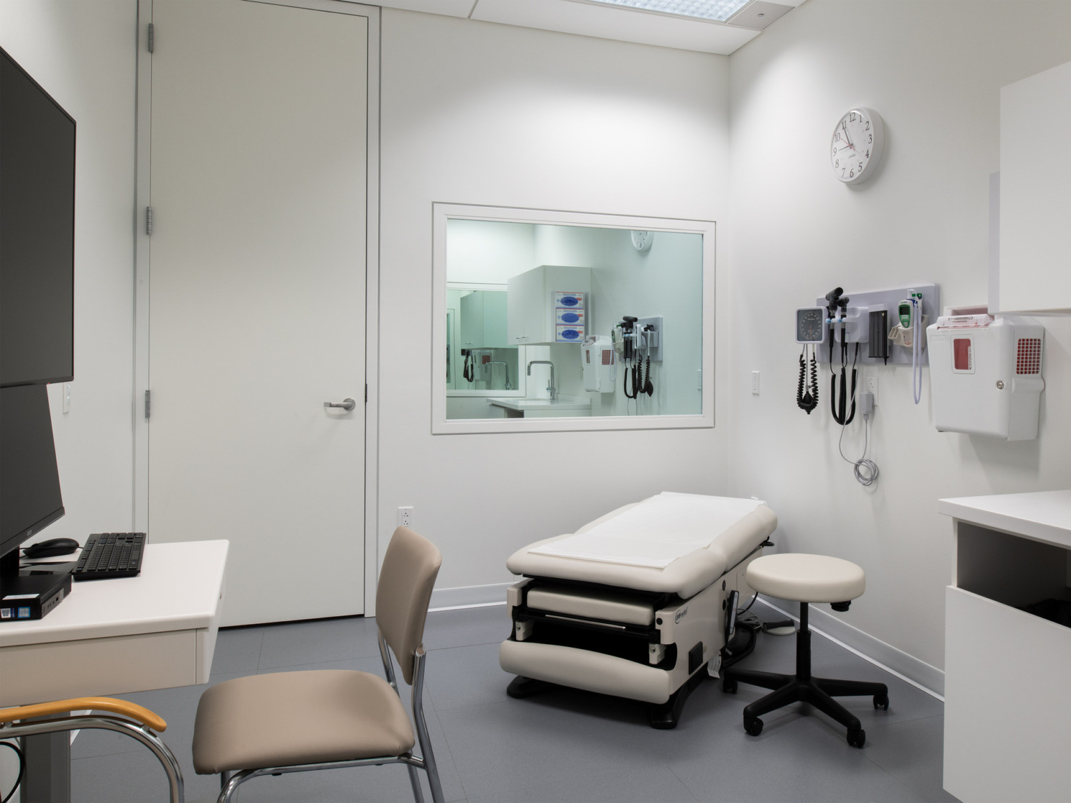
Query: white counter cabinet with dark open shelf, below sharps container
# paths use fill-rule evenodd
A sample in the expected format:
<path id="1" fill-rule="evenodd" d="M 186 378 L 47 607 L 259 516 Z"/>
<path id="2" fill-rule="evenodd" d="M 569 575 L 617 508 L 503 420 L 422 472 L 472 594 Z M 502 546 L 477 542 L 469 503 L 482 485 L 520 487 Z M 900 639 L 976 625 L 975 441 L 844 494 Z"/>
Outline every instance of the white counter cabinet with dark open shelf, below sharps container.
<path id="1" fill-rule="evenodd" d="M 1071 490 L 941 499 L 945 789 L 965 803 L 1071 797 L 1071 627 L 1021 607 L 1071 600 Z"/>

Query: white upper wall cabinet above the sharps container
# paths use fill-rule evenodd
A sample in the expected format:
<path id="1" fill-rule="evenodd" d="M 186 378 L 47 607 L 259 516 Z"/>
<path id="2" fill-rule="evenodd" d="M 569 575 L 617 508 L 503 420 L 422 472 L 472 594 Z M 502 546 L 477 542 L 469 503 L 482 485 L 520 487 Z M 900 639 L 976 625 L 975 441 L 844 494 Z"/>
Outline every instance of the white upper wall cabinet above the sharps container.
<path id="1" fill-rule="evenodd" d="M 1000 90 L 1000 263 L 990 312 L 1071 314 L 1069 141 L 1071 62 Z"/>

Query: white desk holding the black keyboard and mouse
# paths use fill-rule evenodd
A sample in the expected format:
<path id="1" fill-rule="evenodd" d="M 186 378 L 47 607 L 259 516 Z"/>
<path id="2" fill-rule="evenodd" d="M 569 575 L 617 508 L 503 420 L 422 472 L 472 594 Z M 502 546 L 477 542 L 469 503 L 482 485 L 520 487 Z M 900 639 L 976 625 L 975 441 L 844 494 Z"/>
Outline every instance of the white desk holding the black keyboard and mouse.
<path id="1" fill-rule="evenodd" d="M 137 577 L 74 582 L 44 619 L 0 624 L 0 707 L 207 683 L 228 545 L 147 544 Z M 22 742 L 22 800 L 70 801 L 70 734 Z"/>

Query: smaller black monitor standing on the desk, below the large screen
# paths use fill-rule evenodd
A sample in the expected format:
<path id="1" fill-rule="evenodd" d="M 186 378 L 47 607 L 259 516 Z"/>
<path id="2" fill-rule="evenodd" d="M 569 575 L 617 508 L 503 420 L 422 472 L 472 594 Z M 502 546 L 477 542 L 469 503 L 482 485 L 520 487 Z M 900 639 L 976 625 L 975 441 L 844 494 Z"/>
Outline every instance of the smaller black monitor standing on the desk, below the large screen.
<path id="1" fill-rule="evenodd" d="M 0 388 L 0 577 L 18 574 L 18 546 L 63 515 L 48 389 Z"/>

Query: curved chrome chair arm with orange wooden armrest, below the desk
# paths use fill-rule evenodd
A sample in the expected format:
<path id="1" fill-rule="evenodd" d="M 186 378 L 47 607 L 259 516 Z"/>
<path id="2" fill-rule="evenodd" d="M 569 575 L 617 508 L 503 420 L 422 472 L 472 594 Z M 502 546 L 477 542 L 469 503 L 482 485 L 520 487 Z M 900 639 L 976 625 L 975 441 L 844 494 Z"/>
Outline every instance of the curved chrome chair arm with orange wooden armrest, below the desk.
<path id="1" fill-rule="evenodd" d="M 106 711 L 106 714 L 93 713 Z M 79 713 L 74 713 L 79 712 Z M 87 713 L 80 713 L 87 712 Z M 58 716 L 58 714 L 63 714 Z M 115 716 L 114 714 L 121 714 Z M 136 702 L 117 700 L 114 697 L 75 697 L 70 700 L 52 700 L 33 706 L 0 709 L 0 739 L 58 733 L 64 730 L 84 729 L 114 730 L 141 742 L 152 751 L 167 773 L 167 789 L 171 803 L 183 803 L 182 770 L 178 759 L 156 731 L 163 733 L 167 723 L 147 708 Z M 25 769 L 25 768 L 24 768 Z M 21 784 L 20 773 L 16 786 Z M 24 789 L 25 794 L 25 789 Z"/>

